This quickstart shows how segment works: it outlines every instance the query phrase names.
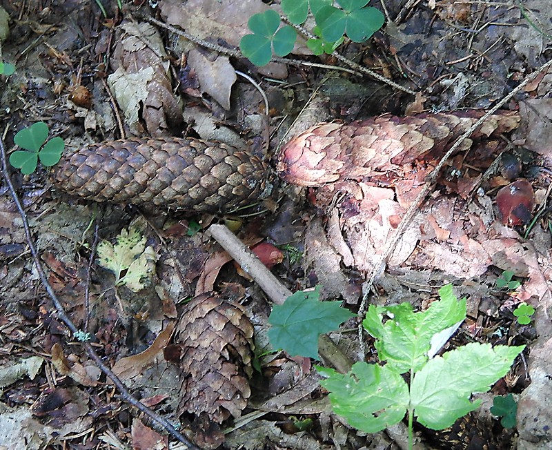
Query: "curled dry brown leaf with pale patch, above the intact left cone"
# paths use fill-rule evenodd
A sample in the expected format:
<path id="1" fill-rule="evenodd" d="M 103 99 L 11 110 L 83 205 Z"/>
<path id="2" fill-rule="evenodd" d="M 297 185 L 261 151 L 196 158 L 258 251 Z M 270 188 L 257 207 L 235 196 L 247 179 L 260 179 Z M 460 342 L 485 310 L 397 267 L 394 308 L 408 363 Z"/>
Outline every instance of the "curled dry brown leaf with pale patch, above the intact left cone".
<path id="1" fill-rule="evenodd" d="M 172 93 L 163 41 L 150 23 L 121 24 L 123 35 L 111 59 L 108 84 L 130 130 L 151 136 L 174 135 L 184 126 L 179 99 Z M 141 117 L 139 117 L 141 111 Z"/>

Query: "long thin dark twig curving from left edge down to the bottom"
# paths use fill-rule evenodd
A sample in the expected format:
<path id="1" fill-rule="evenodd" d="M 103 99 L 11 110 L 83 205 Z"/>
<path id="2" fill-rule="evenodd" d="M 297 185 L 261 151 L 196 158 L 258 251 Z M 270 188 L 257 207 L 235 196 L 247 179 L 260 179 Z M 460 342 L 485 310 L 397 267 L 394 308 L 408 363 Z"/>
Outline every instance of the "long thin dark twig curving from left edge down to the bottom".
<path id="1" fill-rule="evenodd" d="M 25 230 L 27 243 L 30 248 L 30 252 L 32 254 L 32 260 L 34 262 L 34 266 L 37 268 L 37 273 L 39 274 L 41 284 L 44 286 L 44 288 L 46 289 L 46 292 L 50 296 L 50 299 L 52 300 L 55 306 L 59 319 L 61 319 L 61 321 L 63 321 L 63 323 L 66 324 L 67 328 L 70 329 L 72 335 L 75 335 L 75 333 L 79 332 L 79 329 L 77 329 L 77 326 L 73 324 L 73 322 L 70 320 L 65 310 L 63 309 L 63 305 L 57 298 L 57 295 L 52 289 L 52 286 L 50 286 L 50 283 L 48 282 L 48 278 L 46 277 L 46 273 L 44 272 L 44 269 L 40 262 L 40 255 L 38 253 L 37 247 L 34 245 L 34 241 L 32 239 L 32 234 L 30 231 L 30 226 L 27 220 L 25 210 L 23 209 L 23 206 L 21 205 L 21 201 L 19 200 L 19 196 L 17 195 L 14 185 L 12 184 L 12 179 L 8 171 L 6 146 L 4 145 L 4 141 L 1 137 L 0 137 L 0 161 L 2 166 L 1 172 L 2 172 L 3 178 L 6 182 L 6 185 L 8 186 L 8 189 L 10 190 L 13 201 L 17 206 L 19 215 L 21 215 L 21 221 L 23 222 L 23 229 Z M 124 383 L 121 382 L 121 380 L 119 380 L 117 375 L 115 375 L 115 373 L 113 373 L 111 369 L 108 366 L 106 366 L 106 364 L 103 364 L 101 358 L 96 353 L 95 349 L 88 342 L 81 342 L 81 345 L 83 346 L 83 349 L 86 351 L 90 359 L 92 359 L 95 362 L 95 364 L 99 367 L 99 369 L 103 373 L 105 373 L 106 376 L 110 378 L 110 380 L 113 382 L 113 384 L 115 384 L 115 387 L 119 389 L 119 395 L 121 400 L 124 400 L 124 402 L 132 404 L 133 407 L 137 408 L 139 411 L 147 415 L 148 418 L 150 418 L 154 422 L 157 422 L 157 424 L 161 425 L 161 427 L 164 427 L 164 429 L 166 429 L 166 431 L 168 431 L 170 435 L 172 435 L 174 438 L 176 438 L 177 440 L 179 440 L 180 442 L 188 446 L 188 449 L 199 450 L 198 447 L 196 447 L 192 442 L 186 439 L 185 436 L 179 433 L 179 431 L 177 431 L 175 427 L 173 427 L 172 424 L 168 422 L 168 420 L 162 418 L 161 415 L 157 414 L 155 411 L 152 411 L 152 409 L 146 407 L 145 404 L 143 404 L 136 398 L 132 397 L 132 395 L 130 395 L 130 392 L 128 392 L 128 389 L 126 389 L 126 386 L 124 385 Z"/>

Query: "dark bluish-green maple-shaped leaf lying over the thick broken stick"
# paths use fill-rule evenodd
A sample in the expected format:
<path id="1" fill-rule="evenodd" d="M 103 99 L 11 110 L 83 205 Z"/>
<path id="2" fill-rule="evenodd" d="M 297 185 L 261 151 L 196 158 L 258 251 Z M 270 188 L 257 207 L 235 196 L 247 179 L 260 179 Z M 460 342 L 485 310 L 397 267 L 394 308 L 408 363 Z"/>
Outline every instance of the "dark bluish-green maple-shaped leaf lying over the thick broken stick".
<path id="1" fill-rule="evenodd" d="M 320 286 L 314 291 L 299 291 L 282 305 L 273 307 L 268 323 L 268 340 L 274 349 L 291 356 L 318 358 L 318 337 L 339 327 L 354 314 L 339 306 L 341 302 L 320 302 Z"/>

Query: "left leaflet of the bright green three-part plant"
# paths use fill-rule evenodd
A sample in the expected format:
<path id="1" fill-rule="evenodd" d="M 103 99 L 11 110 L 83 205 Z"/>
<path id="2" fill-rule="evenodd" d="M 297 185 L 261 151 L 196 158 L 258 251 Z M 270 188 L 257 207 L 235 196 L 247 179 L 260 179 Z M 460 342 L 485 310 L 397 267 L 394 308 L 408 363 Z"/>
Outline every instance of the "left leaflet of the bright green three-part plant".
<path id="1" fill-rule="evenodd" d="M 351 372 L 337 373 L 317 367 L 328 378 L 320 384 L 330 391 L 333 411 L 351 427 L 376 433 L 404 418 L 408 407 L 408 385 L 388 366 L 357 362 Z"/>

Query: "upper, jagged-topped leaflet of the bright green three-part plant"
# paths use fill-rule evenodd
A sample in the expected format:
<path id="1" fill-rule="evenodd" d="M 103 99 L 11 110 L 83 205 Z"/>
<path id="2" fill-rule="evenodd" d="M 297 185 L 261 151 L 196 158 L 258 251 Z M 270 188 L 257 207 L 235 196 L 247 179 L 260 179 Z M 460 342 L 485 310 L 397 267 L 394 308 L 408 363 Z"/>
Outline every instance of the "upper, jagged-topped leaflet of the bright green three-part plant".
<path id="1" fill-rule="evenodd" d="M 466 318 L 466 299 L 458 301 L 451 284 L 440 288 L 439 295 L 441 300 L 418 313 L 409 303 L 370 305 L 362 324 L 375 337 L 380 360 L 400 373 L 424 366 L 433 336 Z"/>

